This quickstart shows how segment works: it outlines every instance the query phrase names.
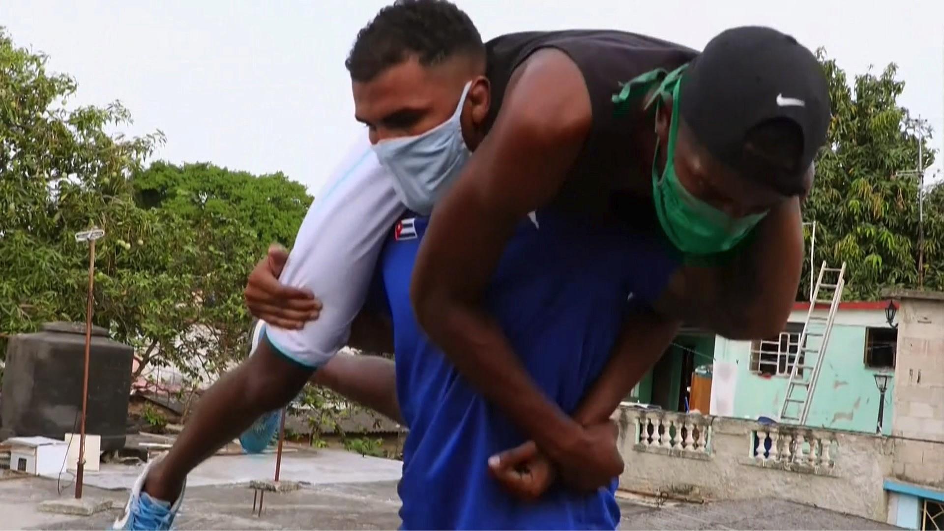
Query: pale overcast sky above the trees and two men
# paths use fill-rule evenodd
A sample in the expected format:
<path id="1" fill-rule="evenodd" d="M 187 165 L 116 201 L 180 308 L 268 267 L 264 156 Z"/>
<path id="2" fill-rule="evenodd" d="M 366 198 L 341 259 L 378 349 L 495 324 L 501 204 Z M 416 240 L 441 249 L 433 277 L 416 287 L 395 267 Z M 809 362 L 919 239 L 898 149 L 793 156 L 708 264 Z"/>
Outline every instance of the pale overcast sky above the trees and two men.
<path id="1" fill-rule="evenodd" d="M 942 148 L 944 1 L 459 0 L 482 37 L 531 29 L 618 28 L 701 49 L 731 26 L 774 26 L 825 46 L 852 77 L 894 61 L 900 102 Z M 126 133 L 160 128 L 156 157 L 253 173 L 283 171 L 316 191 L 356 134 L 344 67 L 386 1 L 0 0 L 14 42 L 78 81 L 76 103 L 121 100 Z M 931 170 L 938 171 L 941 163 Z M 941 172 L 944 173 L 944 172 Z M 940 174 L 938 174 L 940 175 Z"/>

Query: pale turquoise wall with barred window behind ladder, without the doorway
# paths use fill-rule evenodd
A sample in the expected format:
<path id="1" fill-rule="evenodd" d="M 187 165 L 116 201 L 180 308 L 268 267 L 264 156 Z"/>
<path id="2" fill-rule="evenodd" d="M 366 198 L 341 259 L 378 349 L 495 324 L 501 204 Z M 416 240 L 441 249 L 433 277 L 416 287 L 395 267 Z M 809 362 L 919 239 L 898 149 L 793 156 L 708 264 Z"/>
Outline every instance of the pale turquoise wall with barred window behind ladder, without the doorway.
<path id="1" fill-rule="evenodd" d="M 766 345 L 717 338 L 713 415 L 778 418 L 808 308 L 808 303 L 798 303 L 784 333 Z M 826 313 L 817 310 L 814 315 Z M 881 393 L 875 375 L 893 375 L 897 342 L 898 332 L 888 325 L 884 302 L 841 303 L 806 424 L 876 433 Z M 887 382 L 882 433 L 890 435 L 894 378 Z"/>

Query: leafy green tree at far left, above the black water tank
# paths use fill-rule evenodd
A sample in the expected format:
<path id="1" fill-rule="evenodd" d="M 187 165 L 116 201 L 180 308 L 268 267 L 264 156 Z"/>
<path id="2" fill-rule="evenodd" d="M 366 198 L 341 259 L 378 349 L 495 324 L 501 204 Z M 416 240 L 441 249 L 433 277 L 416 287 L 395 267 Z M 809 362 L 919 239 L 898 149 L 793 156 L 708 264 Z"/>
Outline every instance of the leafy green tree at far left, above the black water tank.
<path id="1" fill-rule="evenodd" d="M 99 242 L 102 293 L 137 292 L 128 263 L 163 260 L 150 246 L 162 220 L 135 208 L 127 178 L 163 139 L 110 136 L 105 128 L 128 122 L 118 103 L 69 111 L 76 92 L 68 76 L 49 74 L 46 58 L 17 48 L 0 30 L 0 327 L 5 334 L 35 329 L 45 320 L 81 320 L 88 248 L 76 231 L 107 227 Z M 157 254 L 158 256 L 154 256 Z M 155 280 L 154 282 L 158 282 Z M 103 311 L 97 322 L 135 335 L 126 316 Z"/>

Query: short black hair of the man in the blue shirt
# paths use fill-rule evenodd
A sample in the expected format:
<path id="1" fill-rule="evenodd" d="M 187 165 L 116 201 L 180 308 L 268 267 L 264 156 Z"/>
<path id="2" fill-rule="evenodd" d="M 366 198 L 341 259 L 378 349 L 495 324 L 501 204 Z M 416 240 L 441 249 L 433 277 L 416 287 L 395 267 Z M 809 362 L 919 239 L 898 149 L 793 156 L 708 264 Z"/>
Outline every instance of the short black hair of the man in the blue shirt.
<path id="1" fill-rule="evenodd" d="M 479 30 L 462 9 L 446 0 L 396 0 L 358 32 L 345 66 L 351 79 L 366 82 L 411 57 L 430 66 L 456 54 L 485 57 Z"/>

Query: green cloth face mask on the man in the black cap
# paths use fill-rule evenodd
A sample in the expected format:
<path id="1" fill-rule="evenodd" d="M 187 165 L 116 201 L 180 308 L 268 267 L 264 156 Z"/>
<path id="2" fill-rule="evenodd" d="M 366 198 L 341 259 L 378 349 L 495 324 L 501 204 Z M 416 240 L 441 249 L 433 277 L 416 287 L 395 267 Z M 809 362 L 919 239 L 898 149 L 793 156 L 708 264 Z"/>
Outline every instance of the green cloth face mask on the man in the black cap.
<path id="1" fill-rule="evenodd" d="M 656 112 L 669 92 L 678 109 L 679 79 L 683 68 L 666 76 L 653 100 L 649 101 L 649 105 L 655 102 Z M 675 141 L 678 133 L 679 112 L 673 111 L 668 130 L 666 168 L 661 176 L 657 169 L 660 149 L 658 140 L 655 159 L 652 161 L 652 198 L 659 223 L 672 244 L 684 253 L 706 255 L 730 250 L 741 243 L 767 213 L 731 217 L 686 190 L 675 173 Z"/>

